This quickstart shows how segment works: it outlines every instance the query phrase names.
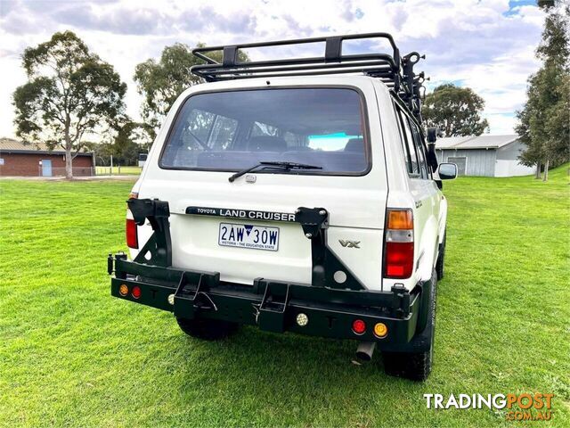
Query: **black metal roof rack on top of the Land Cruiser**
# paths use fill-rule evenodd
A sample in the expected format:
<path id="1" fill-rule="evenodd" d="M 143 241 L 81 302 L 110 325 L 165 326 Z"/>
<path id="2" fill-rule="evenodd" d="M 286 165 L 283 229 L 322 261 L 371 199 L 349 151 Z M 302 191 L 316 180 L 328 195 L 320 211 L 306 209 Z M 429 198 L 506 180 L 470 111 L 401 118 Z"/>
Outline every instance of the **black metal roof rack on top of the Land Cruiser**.
<path id="1" fill-rule="evenodd" d="M 342 54 L 345 40 L 384 38 L 391 46 L 391 53 Z M 240 49 L 302 45 L 324 42 L 323 56 L 288 58 L 268 61 L 238 61 Z M 208 53 L 223 53 L 222 62 L 216 62 Z M 274 42 L 244 43 L 240 45 L 205 46 L 192 49 L 192 53 L 205 64 L 194 65 L 191 72 L 208 82 L 239 78 L 273 78 L 285 76 L 313 76 L 327 74 L 363 73 L 379 78 L 395 95 L 407 103 L 413 115 L 421 121 L 421 99 L 425 88 L 424 73 L 416 74 L 413 66 L 424 56 L 411 52 L 401 56 L 394 38 L 387 33 L 366 33 L 334 37 L 312 37 Z"/>

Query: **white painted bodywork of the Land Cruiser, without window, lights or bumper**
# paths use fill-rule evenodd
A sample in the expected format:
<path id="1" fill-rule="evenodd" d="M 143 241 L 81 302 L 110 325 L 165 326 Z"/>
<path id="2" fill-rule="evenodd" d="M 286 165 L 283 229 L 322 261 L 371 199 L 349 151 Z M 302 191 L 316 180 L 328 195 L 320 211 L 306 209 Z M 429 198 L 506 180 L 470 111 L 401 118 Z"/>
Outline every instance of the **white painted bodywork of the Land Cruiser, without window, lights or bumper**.
<path id="1" fill-rule="evenodd" d="M 165 169 L 160 156 L 175 117 L 192 95 L 274 88 L 352 88 L 362 96 L 371 168 L 360 176 L 293 175 L 251 172 L 255 176 L 229 182 L 232 172 Z M 242 224 L 236 218 L 186 214 L 187 207 L 217 207 L 294 213 L 297 207 L 325 207 L 329 212 L 327 246 L 369 290 L 407 290 L 432 276 L 443 243 L 447 203 L 429 170 L 427 177 L 410 174 L 406 164 L 402 121 L 407 115 L 377 78 L 366 76 L 248 78 L 192 86 L 179 96 L 152 144 L 142 174 L 134 185 L 138 198 L 167 201 L 170 206 L 172 264 L 175 268 L 216 271 L 220 279 L 253 284 L 257 277 L 311 283 L 311 244 L 301 226 L 248 220 L 254 226 L 280 228 L 278 251 L 233 248 L 218 243 L 220 223 Z M 398 113 L 396 109 L 400 110 Z M 413 271 L 389 278 L 383 271 L 387 210 L 407 209 L 413 215 Z M 130 217 L 131 214 L 127 213 Z M 151 227 L 138 226 L 139 248 Z M 357 242 L 357 248 L 346 242 Z M 137 250 L 133 249 L 134 257 Z"/>

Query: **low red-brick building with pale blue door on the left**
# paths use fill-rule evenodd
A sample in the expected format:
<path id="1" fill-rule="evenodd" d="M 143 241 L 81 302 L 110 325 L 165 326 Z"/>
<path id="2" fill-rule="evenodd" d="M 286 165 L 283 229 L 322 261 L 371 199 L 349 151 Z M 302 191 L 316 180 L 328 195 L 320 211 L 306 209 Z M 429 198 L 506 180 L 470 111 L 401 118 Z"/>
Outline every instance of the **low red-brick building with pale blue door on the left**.
<path id="1" fill-rule="evenodd" d="M 94 175 L 92 152 L 77 154 L 73 160 L 73 175 L 76 177 Z M 45 144 L 22 143 L 11 138 L 1 138 L 0 176 L 65 176 L 65 152 L 49 151 Z"/>

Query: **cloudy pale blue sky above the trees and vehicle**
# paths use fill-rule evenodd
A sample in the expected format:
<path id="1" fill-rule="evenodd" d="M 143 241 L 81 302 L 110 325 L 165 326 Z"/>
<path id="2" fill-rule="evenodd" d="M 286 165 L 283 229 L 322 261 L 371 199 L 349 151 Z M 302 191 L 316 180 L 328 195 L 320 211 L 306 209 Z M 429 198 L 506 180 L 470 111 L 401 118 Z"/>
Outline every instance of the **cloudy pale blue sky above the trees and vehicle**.
<path id="1" fill-rule="evenodd" d="M 128 86 L 127 113 L 140 120 L 136 64 L 167 45 L 247 43 L 382 31 L 401 53 L 418 51 L 428 90 L 451 82 L 485 99 L 491 134 L 511 134 L 544 13 L 532 0 L 0 0 L 0 136 L 14 136 L 12 94 L 26 82 L 20 55 L 55 31 L 71 29 Z M 384 49 L 374 43 L 346 53 Z M 352 51 L 351 51 L 352 49 Z M 343 51 L 345 52 L 345 51 Z M 370 52 L 370 51 L 369 51 Z M 289 52 L 249 52 L 252 59 Z M 302 50 L 291 54 L 304 54 Z"/>

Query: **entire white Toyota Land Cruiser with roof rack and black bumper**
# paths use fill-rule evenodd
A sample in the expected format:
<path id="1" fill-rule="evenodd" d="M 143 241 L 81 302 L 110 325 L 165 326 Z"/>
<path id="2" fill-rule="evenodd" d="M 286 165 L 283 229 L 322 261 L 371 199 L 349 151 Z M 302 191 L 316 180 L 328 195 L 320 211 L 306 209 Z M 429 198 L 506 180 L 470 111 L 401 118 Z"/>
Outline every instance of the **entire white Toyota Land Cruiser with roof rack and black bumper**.
<path id="1" fill-rule="evenodd" d="M 379 38 L 389 53 L 343 54 Z M 322 57 L 239 62 L 240 49 L 321 43 Z M 208 53 L 222 51 L 223 62 Z M 444 275 L 447 203 L 424 141 L 418 53 L 385 33 L 203 47 L 127 201 L 132 260 L 111 294 L 215 340 L 239 325 L 378 346 L 424 380 Z"/>

